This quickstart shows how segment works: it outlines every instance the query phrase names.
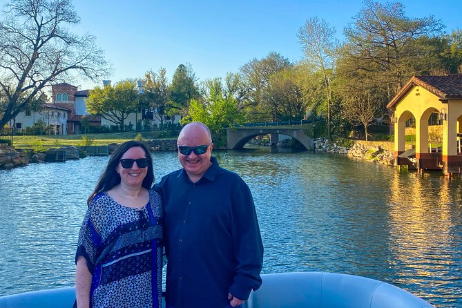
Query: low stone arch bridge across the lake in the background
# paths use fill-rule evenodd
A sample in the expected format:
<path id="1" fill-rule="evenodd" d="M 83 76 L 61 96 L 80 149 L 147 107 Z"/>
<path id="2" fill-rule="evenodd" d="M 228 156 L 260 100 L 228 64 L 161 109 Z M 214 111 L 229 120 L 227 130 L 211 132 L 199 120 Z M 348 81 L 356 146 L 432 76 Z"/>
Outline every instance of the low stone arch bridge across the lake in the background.
<path id="1" fill-rule="evenodd" d="M 227 128 L 227 148 L 235 150 L 242 148 L 250 139 L 258 135 L 271 135 L 271 143 L 278 142 L 278 135 L 287 135 L 298 140 L 307 150 L 314 149 L 312 138 L 313 128 L 309 126 L 296 127 L 235 127 Z"/>

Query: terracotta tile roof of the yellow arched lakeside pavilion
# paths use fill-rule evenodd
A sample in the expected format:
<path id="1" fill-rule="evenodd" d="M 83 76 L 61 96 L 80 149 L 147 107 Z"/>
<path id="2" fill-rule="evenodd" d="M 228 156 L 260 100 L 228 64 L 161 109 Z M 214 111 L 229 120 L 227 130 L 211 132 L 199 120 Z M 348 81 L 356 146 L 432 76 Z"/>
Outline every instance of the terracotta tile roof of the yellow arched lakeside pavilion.
<path id="1" fill-rule="evenodd" d="M 462 75 L 414 76 L 387 104 L 393 108 L 414 86 L 421 86 L 441 100 L 462 99 Z"/>

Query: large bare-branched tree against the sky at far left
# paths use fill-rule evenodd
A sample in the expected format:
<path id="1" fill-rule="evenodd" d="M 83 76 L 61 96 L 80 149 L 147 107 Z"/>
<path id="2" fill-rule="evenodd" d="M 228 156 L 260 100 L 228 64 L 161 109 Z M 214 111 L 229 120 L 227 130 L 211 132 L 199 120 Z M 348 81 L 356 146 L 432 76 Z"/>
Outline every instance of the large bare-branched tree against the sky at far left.
<path id="1" fill-rule="evenodd" d="M 108 73 L 95 37 L 79 23 L 70 0 L 15 0 L 0 21 L 0 127 L 37 102 L 44 88 L 73 74 L 96 81 Z"/>

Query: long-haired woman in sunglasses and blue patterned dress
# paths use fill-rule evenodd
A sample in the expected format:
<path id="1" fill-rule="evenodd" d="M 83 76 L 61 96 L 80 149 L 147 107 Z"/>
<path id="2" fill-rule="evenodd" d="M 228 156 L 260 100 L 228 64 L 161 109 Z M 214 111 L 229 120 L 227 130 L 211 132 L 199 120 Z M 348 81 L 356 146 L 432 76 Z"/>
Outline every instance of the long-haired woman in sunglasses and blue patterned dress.
<path id="1" fill-rule="evenodd" d="M 75 262 L 77 307 L 162 307 L 162 204 L 153 161 L 128 141 L 88 198 Z"/>

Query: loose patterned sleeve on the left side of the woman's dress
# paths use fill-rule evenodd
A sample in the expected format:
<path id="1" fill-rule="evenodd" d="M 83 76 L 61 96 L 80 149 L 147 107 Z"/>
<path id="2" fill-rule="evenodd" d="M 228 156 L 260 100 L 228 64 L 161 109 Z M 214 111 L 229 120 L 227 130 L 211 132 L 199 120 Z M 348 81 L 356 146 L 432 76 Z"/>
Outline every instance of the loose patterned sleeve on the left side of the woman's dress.
<path id="1" fill-rule="evenodd" d="M 102 238 L 95 228 L 95 211 L 93 202 L 88 206 L 84 222 L 81 225 L 79 240 L 77 242 L 77 252 L 75 253 L 75 264 L 79 256 L 86 258 L 88 271 L 93 274 L 95 262 L 102 247 Z"/>

